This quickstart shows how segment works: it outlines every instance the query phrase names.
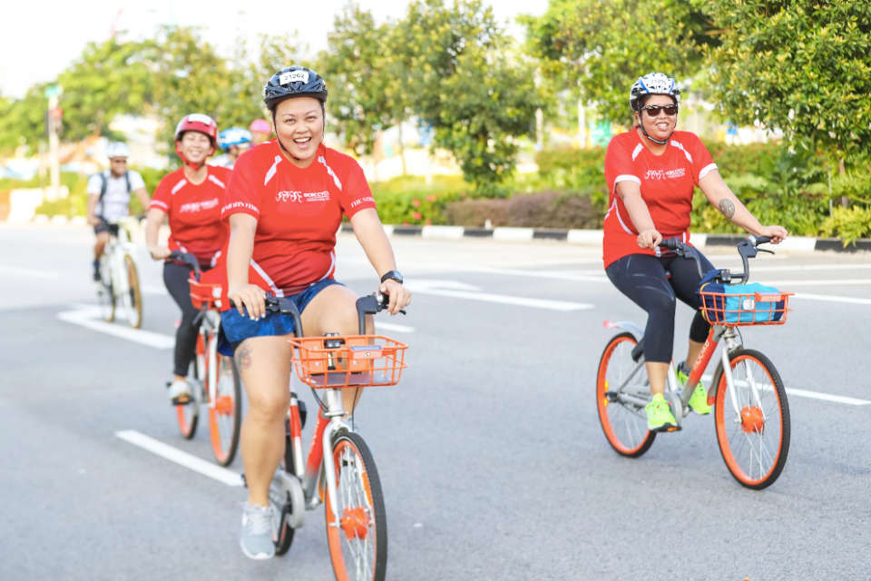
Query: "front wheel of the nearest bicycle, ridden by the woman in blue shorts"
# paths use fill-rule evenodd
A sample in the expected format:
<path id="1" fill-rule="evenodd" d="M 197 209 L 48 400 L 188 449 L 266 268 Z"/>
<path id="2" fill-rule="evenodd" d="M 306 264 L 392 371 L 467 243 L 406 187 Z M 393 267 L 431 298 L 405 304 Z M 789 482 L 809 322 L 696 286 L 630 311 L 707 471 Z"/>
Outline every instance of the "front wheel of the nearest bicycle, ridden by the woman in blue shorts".
<path id="1" fill-rule="evenodd" d="M 332 453 L 337 497 L 326 495 L 324 515 L 333 572 L 338 581 L 383 581 L 387 516 L 375 460 L 363 438 L 344 429 L 333 438 Z"/>

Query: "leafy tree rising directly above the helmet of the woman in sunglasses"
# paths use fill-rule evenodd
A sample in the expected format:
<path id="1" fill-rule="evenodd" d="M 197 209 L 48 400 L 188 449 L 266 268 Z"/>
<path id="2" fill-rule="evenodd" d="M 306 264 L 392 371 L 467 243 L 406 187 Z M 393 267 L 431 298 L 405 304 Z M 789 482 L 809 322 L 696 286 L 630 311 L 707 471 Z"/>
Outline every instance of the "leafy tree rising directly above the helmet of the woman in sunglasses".
<path id="1" fill-rule="evenodd" d="M 545 14 L 523 22 L 544 74 L 579 87 L 617 123 L 629 120 L 629 89 L 638 77 L 696 74 L 701 47 L 717 42 L 707 35 L 708 16 L 687 0 L 551 0 Z"/>

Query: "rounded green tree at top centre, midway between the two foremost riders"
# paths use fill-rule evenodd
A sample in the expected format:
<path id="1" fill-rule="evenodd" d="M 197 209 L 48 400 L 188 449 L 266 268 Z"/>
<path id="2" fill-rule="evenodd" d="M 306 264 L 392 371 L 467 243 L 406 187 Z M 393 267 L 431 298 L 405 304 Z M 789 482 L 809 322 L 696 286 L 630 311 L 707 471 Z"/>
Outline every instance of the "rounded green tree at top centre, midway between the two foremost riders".
<path id="1" fill-rule="evenodd" d="M 412 107 L 435 129 L 434 146 L 454 153 L 476 190 L 495 192 L 542 104 L 532 68 L 480 0 L 415 0 L 397 32 Z"/>

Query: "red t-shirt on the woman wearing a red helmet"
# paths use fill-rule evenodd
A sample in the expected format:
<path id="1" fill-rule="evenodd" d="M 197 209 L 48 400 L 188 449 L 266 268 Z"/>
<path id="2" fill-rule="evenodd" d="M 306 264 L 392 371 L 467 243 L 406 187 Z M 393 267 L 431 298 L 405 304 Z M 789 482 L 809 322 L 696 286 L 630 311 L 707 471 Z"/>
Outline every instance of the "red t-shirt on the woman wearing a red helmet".
<path id="1" fill-rule="evenodd" d="M 191 252 L 202 264 L 213 263 L 227 240 L 220 204 L 231 173 L 225 167 L 206 167 L 209 172 L 199 184 L 189 182 L 183 168 L 171 172 L 161 180 L 148 205 L 169 216 L 170 249 Z"/>

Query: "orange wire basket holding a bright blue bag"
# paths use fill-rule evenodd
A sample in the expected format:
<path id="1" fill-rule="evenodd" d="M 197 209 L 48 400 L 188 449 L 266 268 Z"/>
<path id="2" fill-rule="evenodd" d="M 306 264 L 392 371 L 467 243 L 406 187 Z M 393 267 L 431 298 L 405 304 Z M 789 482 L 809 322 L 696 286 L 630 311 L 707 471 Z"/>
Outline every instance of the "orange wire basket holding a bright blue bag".
<path id="1" fill-rule="evenodd" d="M 782 325 L 787 322 L 789 297 L 794 292 L 700 291 L 701 314 L 711 325 Z"/>

